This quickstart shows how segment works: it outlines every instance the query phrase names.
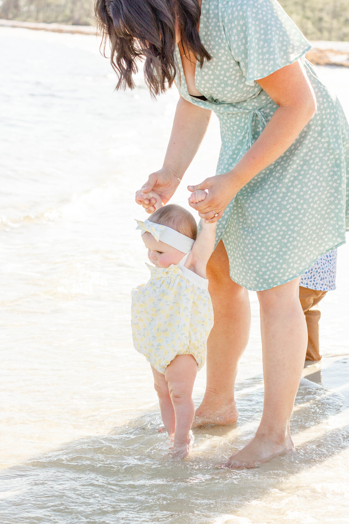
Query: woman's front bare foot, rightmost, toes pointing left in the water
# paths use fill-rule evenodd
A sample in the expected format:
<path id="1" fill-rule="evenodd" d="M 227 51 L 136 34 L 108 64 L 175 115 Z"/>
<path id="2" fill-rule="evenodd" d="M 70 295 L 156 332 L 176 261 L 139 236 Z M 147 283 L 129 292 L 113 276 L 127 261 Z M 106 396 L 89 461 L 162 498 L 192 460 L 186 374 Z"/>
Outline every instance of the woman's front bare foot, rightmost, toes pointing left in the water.
<path id="1" fill-rule="evenodd" d="M 266 436 L 255 435 L 254 438 L 234 455 L 231 455 L 228 462 L 224 464 L 226 467 L 232 468 L 248 468 L 255 467 L 278 455 L 283 455 L 288 451 L 293 451 L 295 446 L 292 442 L 289 431 L 286 434 L 283 442 L 275 442 Z"/>

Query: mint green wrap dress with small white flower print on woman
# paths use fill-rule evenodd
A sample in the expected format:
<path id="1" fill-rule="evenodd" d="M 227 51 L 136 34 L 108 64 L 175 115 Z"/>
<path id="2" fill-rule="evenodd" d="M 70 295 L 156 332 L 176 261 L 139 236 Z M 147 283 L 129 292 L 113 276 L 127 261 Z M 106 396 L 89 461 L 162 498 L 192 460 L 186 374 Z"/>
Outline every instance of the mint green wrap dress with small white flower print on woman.
<path id="1" fill-rule="evenodd" d="M 277 110 L 256 79 L 300 59 L 318 110 L 289 149 L 247 183 L 217 224 L 232 280 L 254 291 L 279 286 L 345 243 L 349 228 L 349 128 L 340 103 L 305 59 L 310 44 L 275 0 L 202 0 L 200 37 L 211 54 L 185 100 L 214 111 L 222 146 L 216 174 L 232 169 Z"/>

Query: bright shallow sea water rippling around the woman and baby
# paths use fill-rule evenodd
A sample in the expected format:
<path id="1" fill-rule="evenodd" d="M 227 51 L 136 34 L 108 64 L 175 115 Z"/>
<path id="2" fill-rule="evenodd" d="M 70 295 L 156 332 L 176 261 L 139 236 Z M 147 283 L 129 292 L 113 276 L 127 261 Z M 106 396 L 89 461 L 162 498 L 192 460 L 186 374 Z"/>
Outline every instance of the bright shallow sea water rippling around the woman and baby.
<path id="1" fill-rule="evenodd" d="M 177 95 L 138 80 L 114 93 L 94 37 L 0 29 L 0 518 L 31 523 L 347 524 L 349 249 L 321 302 L 321 365 L 305 369 L 291 429 L 297 451 L 247 471 L 217 466 L 263 407 L 258 305 L 238 377 L 234 427 L 195 430 L 167 457 L 151 374 L 132 348 L 130 289 L 147 278 L 132 202 L 161 166 Z M 322 68 L 347 115 L 349 70 Z M 215 171 L 212 119 L 187 183 Z M 205 370 L 197 377 L 199 403 Z"/>

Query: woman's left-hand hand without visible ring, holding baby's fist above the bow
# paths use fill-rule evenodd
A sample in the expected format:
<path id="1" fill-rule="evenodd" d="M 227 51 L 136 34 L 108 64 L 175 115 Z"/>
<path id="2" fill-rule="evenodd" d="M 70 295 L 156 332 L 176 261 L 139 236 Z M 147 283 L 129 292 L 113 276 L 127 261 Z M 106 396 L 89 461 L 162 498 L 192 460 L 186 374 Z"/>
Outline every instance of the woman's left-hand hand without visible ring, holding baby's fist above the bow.
<path id="1" fill-rule="evenodd" d="M 161 168 L 149 175 L 147 182 L 142 186 L 142 189 L 136 192 L 136 202 L 142 205 L 147 213 L 154 213 L 156 202 L 155 198 L 147 198 L 147 193 L 154 191 L 160 196 L 163 204 L 170 200 L 171 196 L 176 191 L 181 179 L 175 176 L 170 169 Z"/>

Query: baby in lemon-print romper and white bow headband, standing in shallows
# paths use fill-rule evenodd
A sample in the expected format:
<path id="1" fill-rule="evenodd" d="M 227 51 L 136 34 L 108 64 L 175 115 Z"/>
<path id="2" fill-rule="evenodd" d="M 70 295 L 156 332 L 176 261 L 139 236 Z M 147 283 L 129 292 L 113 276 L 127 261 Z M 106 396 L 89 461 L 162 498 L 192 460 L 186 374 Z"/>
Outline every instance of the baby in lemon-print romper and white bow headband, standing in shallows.
<path id="1" fill-rule="evenodd" d="M 204 194 L 205 193 L 205 194 Z M 195 191 L 189 200 L 204 200 Z M 162 421 L 173 442 L 172 455 L 185 457 L 192 447 L 196 373 L 205 364 L 213 325 L 206 264 L 215 247 L 216 223 L 201 220 L 179 205 L 156 198 L 149 220 L 137 220 L 153 264 L 150 280 L 132 290 L 133 344 L 151 365 Z"/>

